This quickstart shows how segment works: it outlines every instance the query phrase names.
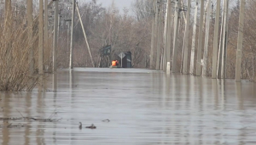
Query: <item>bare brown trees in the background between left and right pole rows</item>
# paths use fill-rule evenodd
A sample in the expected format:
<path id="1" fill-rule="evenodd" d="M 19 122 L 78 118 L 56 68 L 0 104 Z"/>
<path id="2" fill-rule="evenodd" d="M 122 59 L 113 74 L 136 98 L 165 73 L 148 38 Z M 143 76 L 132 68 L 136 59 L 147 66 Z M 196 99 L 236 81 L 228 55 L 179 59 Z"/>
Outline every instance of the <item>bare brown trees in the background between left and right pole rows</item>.
<path id="1" fill-rule="evenodd" d="M 144 1 L 142 7 L 148 4 L 146 2 Z M 68 22 L 63 23 L 63 20 L 71 18 L 71 11 L 68 11 L 67 7 L 68 5 L 63 5 L 61 8 L 63 9 L 61 11 L 62 25 L 58 51 L 60 68 L 67 68 L 69 62 Z M 120 11 L 114 3 L 109 8 L 103 8 L 96 0 L 79 3 L 84 29 L 96 67 L 109 67 L 111 59 L 119 59 L 119 53 L 128 51 L 132 53 L 133 67 L 149 67 L 152 10 L 151 7 L 144 9 L 146 15 L 143 15 L 139 14 L 140 7 L 138 3 L 134 3 L 133 9 Z M 92 67 L 77 14 L 74 29 L 74 66 Z M 112 46 L 112 53 L 110 56 L 102 56 L 101 48 L 107 45 Z"/>

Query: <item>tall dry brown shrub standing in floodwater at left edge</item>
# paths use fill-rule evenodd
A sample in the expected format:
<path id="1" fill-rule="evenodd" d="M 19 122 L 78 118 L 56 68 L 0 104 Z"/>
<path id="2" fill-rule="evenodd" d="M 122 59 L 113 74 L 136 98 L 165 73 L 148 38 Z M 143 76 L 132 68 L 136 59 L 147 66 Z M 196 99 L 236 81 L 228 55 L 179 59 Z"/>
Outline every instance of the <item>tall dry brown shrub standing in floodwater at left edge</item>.
<path id="1" fill-rule="evenodd" d="M 38 75 L 29 70 L 32 63 L 29 61 L 30 49 L 35 46 L 37 35 L 29 40 L 25 24 L 13 20 L 5 20 L 1 24 L 0 91 L 30 91 L 38 83 Z"/>

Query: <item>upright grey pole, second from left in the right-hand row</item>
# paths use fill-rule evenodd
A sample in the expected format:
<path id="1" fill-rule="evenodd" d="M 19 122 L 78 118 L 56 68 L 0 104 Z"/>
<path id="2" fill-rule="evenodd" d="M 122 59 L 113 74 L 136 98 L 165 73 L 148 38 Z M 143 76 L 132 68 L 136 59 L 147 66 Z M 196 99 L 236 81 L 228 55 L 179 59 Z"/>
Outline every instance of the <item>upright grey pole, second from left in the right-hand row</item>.
<path id="1" fill-rule="evenodd" d="M 163 3 L 162 0 L 159 2 L 159 19 L 158 19 L 158 31 L 157 31 L 157 50 L 156 50 L 156 70 L 160 70 L 160 44 L 162 43 L 161 31 L 163 27 Z"/>

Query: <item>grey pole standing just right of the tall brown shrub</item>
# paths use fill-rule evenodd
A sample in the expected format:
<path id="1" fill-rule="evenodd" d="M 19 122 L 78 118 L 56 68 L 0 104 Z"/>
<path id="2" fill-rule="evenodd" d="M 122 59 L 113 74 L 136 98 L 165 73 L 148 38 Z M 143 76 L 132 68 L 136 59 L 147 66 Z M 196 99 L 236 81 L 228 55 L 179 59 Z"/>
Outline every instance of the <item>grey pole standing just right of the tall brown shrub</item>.
<path id="1" fill-rule="evenodd" d="M 38 42 L 38 73 L 43 75 L 44 73 L 44 0 L 39 0 L 39 42 Z"/>

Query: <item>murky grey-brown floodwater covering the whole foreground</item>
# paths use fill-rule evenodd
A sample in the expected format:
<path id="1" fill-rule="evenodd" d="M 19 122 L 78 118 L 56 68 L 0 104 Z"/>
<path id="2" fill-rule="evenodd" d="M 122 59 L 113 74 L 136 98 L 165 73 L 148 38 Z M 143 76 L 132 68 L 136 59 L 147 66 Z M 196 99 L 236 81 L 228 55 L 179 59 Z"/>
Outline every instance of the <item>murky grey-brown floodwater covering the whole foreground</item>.
<path id="1" fill-rule="evenodd" d="M 256 144 L 250 82 L 121 69 L 60 70 L 55 78 L 46 92 L 1 93 L 0 117 L 61 119 L 0 120 L 2 144 Z M 84 128 L 91 124 L 96 130 Z"/>

